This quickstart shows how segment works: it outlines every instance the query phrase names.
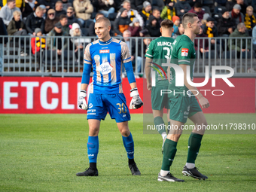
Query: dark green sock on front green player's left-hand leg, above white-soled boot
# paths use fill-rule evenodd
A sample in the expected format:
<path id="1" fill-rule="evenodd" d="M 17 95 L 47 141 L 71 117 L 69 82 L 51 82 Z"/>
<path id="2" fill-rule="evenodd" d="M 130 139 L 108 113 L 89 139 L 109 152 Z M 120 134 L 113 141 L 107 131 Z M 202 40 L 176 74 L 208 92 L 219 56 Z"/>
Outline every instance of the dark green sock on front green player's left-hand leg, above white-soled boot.
<path id="1" fill-rule="evenodd" d="M 172 165 L 172 161 L 177 151 L 177 142 L 166 139 L 163 145 L 163 163 L 162 170 L 169 171 L 169 167 Z"/>

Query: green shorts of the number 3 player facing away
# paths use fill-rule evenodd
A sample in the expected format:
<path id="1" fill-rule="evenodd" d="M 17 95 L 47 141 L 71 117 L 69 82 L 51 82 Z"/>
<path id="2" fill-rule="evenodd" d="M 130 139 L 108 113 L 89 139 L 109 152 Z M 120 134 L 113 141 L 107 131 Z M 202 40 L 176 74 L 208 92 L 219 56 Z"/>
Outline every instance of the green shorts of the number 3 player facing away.
<path id="1" fill-rule="evenodd" d="M 169 109 L 168 94 L 164 93 L 161 96 L 161 90 L 168 90 L 168 86 L 152 87 L 151 89 L 151 105 L 153 110 L 162 110 L 163 108 Z"/>

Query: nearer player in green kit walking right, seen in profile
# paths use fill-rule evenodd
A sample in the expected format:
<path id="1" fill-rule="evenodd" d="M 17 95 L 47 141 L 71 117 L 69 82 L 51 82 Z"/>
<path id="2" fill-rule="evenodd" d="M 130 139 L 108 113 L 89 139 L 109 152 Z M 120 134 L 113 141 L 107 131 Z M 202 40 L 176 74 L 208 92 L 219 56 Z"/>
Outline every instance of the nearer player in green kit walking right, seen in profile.
<path id="1" fill-rule="evenodd" d="M 193 81 L 194 60 L 196 57 L 193 41 L 200 32 L 202 23 L 198 19 L 197 14 L 187 13 L 182 17 L 182 24 L 184 26 L 184 35 L 178 36 L 173 42 L 171 63 L 178 65 L 177 67 L 183 70 L 184 76 L 181 78 L 184 79 L 184 86 L 175 87 L 175 76 L 178 77 L 181 73 L 171 68 L 169 84 L 169 90 L 172 91 L 172 93 L 169 94 L 171 130 L 163 145 L 163 163 L 160 173 L 158 174 L 158 181 L 184 181 L 175 178 L 169 172 L 169 169 L 175 157 L 178 139 L 181 136 L 182 128 L 187 121 L 187 117 L 193 121 L 195 127 L 188 140 L 187 163 L 184 166 L 182 174 L 193 178 L 207 179 L 207 176 L 201 174 L 195 167 L 195 160 L 197 159 L 201 140 L 207 126 L 206 117 L 200 105 L 202 108 L 208 108 L 209 102 L 203 97 L 199 90 L 197 90 L 197 87 L 193 87 L 187 82 L 187 73 L 190 75 L 190 81 Z M 187 66 L 190 66 L 190 71 L 187 71 Z M 200 105 L 195 98 L 196 96 Z M 202 129 L 197 129 L 199 127 Z"/>

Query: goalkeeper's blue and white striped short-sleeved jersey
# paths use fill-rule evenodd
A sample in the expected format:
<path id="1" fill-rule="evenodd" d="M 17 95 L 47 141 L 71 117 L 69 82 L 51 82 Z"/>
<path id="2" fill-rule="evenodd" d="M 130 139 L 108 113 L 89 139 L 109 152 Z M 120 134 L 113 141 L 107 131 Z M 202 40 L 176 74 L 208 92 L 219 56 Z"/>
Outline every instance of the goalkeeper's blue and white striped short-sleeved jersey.
<path id="1" fill-rule="evenodd" d="M 111 38 L 93 41 L 84 50 L 84 64 L 93 65 L 90 93 L 123 93 L 123 63 L 131 62 L 127 44 Z"/>

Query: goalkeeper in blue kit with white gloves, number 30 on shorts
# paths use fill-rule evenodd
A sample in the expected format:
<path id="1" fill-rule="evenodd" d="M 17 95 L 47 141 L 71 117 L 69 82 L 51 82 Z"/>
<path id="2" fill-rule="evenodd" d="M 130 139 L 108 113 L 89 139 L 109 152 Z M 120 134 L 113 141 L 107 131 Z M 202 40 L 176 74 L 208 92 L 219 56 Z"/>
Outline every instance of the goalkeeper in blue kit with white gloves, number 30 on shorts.
<path id="1" fill-rule="evenodd" d="M 99 151 L 99 126 L 107 113 L 110 114 L 112 119 L 116 120 L 117 127 L 122 134 L 123 145 L 127 152 L 128 164 L 132 174 L 141 174 L 134 161 L 133 136 L 128 127 L 130 112 L 122 90 L 122 66 L 126 69 L 131 87 L 130 109 L 140 108 L 143 102 L 136 88 L 129 49 L 123 41 L 111 38 L 109 35 L 110 29 L 111 23 L 107 18 L 102 17 L 96 20 L 95 32 L 99 39 L 88 44 L 84 51 L 84 72 L 78 105 L 80 108 L 87 110 L 89 123 L 87 154 L 90 167 L 84 172 L 78 172 L 77 176 L 98 176 L 96 162 Z M 86 90 L 90 81 L 92 66 L 93 83 L 90 87 L 87 105 Z"/>

